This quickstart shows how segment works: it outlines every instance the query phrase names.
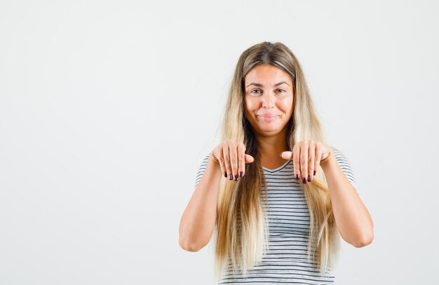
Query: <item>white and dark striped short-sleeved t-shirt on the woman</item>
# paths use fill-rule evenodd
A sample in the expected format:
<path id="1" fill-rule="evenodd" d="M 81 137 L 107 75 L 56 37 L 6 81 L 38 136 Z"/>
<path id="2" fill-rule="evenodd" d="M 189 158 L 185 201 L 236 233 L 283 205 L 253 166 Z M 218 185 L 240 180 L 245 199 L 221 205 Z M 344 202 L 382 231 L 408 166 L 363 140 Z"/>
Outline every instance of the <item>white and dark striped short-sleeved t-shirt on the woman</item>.
<path id="1" fill-rule="evenodd" d="M 356 188 L 349 162 L 340 151 L 332 149 L 346 178 Z M 195 187 L 203 176 L 208 159 L 209 155 L 199 167 Z M 269 201 L 269 207 L 265 207 L 269 221 L 268 251 L 245 277 L 239 273 L 233 275 L 231 264 L 227 265 L 218 284 L 335 284 L 331 269 L 322 277 L 318 267 L 306 259 L 309 209 L 300 182 L 294 178 L 292 160 L 276 169 L 262 169 Z"/>

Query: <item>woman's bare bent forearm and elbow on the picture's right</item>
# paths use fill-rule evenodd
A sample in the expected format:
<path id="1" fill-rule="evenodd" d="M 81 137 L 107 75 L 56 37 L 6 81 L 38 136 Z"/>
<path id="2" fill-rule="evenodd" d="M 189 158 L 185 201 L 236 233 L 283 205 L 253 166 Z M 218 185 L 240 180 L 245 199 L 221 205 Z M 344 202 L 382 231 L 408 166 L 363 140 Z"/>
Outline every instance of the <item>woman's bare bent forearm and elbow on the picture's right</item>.
<path id="1" fill-rule="evenodd" d="M 342 238 L 356 247 L 370 244 L 374 238 L 372 218 L 357 191 L 339 167 L 335 155 L 320 166 L 330 191 L 335 223 Z"/>

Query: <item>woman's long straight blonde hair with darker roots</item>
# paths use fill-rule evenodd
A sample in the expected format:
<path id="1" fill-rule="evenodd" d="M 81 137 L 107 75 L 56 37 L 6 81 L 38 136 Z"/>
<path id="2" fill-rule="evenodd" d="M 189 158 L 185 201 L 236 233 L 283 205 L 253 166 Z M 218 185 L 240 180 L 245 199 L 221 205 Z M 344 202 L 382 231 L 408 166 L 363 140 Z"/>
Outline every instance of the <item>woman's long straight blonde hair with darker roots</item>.
<path id="1" fill-rule="evenodd" d="M 243 141 L 245 153 L 252 155 L 255 162 L 245 165 L 245 175 L 239 181 L 222 179 L 219 185 L 215 222 L 217 280 L 223 276 L 228 261 L 231 262 L 233 272 L 241 270 L 247 274 L 262 260 L 268 249 L 268 223 L 262 203 L 267 197 L 266 182 L 257 140 L 245 118 L 244 109 L 244 78 L 259 64 L 271 64 L 292 78 L 294 102 L 287 137 L 290 150 L 297 141 L 324 141 L 302 67 L 291 50 L 282 43 L 269 42 L 245 50 L 239 57 L 231 82 L 222 125 L 222 141 Z M 319 166 L 312 183 L 301 185 L 311 220 L 308 259 L 318 265 L 323 275 L 335 260 L 339 242 L 323 169 Z M 264 189 L 263 193 L 261 189 Z"/>

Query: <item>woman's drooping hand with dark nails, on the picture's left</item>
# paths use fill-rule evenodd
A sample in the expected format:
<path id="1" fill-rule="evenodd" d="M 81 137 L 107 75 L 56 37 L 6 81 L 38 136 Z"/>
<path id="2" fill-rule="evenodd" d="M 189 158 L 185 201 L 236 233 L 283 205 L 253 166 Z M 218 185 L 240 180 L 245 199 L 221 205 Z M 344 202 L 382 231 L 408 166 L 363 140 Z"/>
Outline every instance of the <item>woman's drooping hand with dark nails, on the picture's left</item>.
<path id="1" fill-rule="evenodd" d="M 255 161 L 251 155 L 245 154 L 245 145 L 241 141 L 227 139 L 210 152 L 210 158 L 221 167 L 224 177 L 238 181 L 245 174 L 245 163 Z"/>

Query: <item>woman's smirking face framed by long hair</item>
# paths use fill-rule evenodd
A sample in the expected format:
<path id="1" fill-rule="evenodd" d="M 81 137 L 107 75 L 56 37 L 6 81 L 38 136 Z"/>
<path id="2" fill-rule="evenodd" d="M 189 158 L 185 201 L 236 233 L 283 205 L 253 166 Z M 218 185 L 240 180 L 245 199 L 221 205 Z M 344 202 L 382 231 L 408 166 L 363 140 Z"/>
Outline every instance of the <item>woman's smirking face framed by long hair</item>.
<path id="1" fill-rule="evenodd" d="M 290 75 L 270 64 L 254 67 L 244 78 L 245 116 L 257 134 L 280 133 L 292 116 Z"/>

